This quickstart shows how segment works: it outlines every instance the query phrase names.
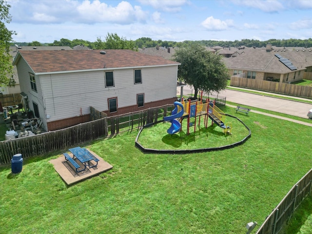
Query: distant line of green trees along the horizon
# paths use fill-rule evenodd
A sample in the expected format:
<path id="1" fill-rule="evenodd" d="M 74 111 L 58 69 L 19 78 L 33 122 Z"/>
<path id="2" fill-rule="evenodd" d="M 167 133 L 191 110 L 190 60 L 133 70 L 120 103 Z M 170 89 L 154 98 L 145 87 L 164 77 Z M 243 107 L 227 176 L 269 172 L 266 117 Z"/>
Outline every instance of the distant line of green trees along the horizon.
<path id="1" fill-rule="evenodd" d="M 109 40 L 117 43 L 108 43 Z M 168 41 L 168 40 L 152 40 L 151 38 L 139 38 L 136 40 L 127 40 L 123 37 L 118 37 L 117 34 L 108 34 L 106 40 L 101 40 L 98 38 L 95 42 L 90 42 L 82 39 L 60 39 L 55 40 L 53 43 L 40 43 L 39 41 L 32 42 L 15 42 L 12 45 L 18 44 L 19 46 L 69 46 L 74 47 L 77 45 L 87 46 L 90 49 L 125 49 L 128 46 L 135 46 L 135 48 L 149 48 L 163 46 L 163 47 L 182 47 L 186 44 L 191 43 L 200 43 L 207 47 L 221 46 L 221 47 L 265 47 L 268 43 L 271 43 L 273 46 L 278 47 L 312 47 L 312 39 L 269 39 L 266 41 L 254 40 L 254 39 L 242 39 L 242 40 L 234 40 L 234 41 L 218 41 L 218 40 L 199 40 L 199 41 L 191 41 L 185 40 L 183 42 L 176 41 Z M 127 44 L 128 46 L 125 46 Z M 114 48 L 111 48 L 111 47 Z"/>

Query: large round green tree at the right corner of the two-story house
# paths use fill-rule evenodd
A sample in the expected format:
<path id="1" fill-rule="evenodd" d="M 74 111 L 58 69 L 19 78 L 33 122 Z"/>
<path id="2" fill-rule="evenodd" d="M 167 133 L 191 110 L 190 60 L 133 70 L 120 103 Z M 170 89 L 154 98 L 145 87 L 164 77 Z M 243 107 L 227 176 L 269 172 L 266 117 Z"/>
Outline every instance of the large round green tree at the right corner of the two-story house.
<path id="1" fill-rule="evenodd" d="M 220 55 L 192 43 L 176 50 L 174 60 L 181 63 L 177 72 L 179 80 L 194 87 L 194 98 L 198 90 L 208 93 L 225 89 L 229 73 Z"/>

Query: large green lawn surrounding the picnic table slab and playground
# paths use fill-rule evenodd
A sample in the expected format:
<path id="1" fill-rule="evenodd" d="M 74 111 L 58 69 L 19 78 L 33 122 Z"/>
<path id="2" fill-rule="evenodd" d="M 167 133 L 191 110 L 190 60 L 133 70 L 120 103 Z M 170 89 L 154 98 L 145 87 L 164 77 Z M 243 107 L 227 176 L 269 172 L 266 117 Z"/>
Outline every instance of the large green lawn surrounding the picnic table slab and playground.
<path id="1" fill-rule="evenodd" d="M 143 154 L 137 131 L 123 133 L 81 145 L 114 168 L 70 187 L 49 163 L 67 149 L 24 160 L 18 175 L 1 166 L 1 233 L 245 234 L 248 222 L 261 224 L 311 169 L 311 128 L 224 112 L 251 129 L 243 145 Z"/>

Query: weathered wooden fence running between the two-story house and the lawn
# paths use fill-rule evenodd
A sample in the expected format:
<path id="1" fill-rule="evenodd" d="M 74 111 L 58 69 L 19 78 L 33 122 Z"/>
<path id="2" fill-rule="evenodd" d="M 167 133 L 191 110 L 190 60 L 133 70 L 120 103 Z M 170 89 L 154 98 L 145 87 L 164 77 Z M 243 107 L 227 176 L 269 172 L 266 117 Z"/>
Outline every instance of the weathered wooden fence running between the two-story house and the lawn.
<path id="1" fill-rule="evenodd" d="M 109 132 L 111 135 L 118 134 L 121 132 L 120 129 L 132 131 L 156 122 L 166 113 L 167 105 L 126 115 L 102 117 L 48 133 L 0 141 L 0 164 L 10 163 L 15 154 L 22 154 L 23 158 L 29 158 L 107 137 Z"/>

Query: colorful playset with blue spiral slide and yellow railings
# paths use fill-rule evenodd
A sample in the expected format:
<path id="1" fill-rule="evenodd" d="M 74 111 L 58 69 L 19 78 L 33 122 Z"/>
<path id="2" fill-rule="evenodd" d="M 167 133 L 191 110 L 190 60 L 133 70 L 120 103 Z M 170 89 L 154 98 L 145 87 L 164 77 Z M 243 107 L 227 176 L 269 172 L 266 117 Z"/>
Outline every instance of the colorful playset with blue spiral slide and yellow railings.
<path id="1" fill-rule="evenodd" d="M 202 94 L 201 94 L 202 96 Z M 226 114 L 221 111 L 216 105 L 215 101 L 206 99 L 203 103 L 202 98 L 200 101 L 193 101 L 189 99 L 187 102 L 181 103 L 175 101 L 175 109 L 172 111 L 172 115 L 164 117 L 164 121 L 171 122 L 171 127 L 167 130 L 168 134 L 175 134 L 182 129 L 182 121 L 187 118 L 187 134 L 190 134 L 190 127 L 194 126 L 194 132 L 196 131 L 196 121 L 198 117 L 198 126 L 200 126 L 201 116 L 204 116 L 204 126 L 207 128 L 208 119 L 212 120 L 211 126 L 217 124 L 223 129 L 225 135 L 227 133 L 232 134 L 231 123 L 225 123 Z"/>

